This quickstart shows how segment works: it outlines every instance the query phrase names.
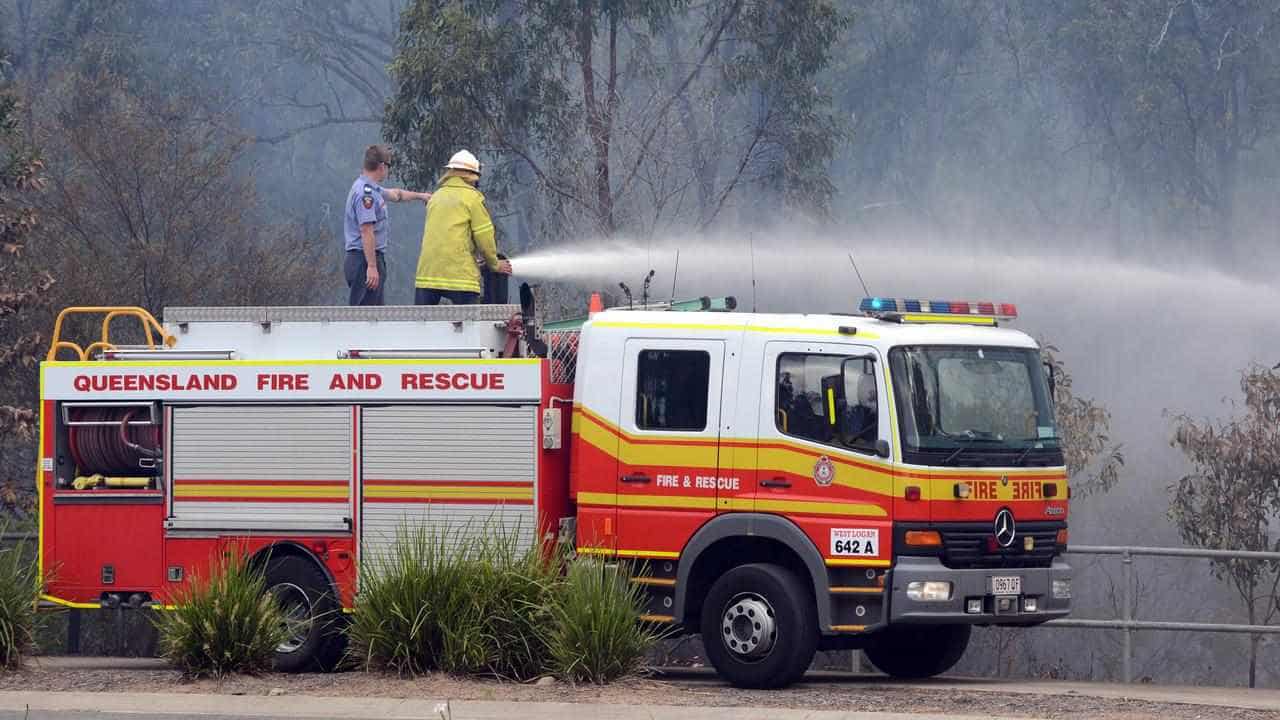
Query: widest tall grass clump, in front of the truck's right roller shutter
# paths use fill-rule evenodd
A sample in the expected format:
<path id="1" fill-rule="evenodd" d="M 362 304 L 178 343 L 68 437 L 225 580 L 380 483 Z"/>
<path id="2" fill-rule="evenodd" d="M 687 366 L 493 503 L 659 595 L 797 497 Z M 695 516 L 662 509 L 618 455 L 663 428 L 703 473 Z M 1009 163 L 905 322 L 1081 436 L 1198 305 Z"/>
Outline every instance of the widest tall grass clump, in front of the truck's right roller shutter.
<path id="1" fill-rule="evenodd" d="M 509 530 L 402 529 L 361 568 L 348 628 L 365 667 L 524 680 L 547 665 L 558 568 Z"/>

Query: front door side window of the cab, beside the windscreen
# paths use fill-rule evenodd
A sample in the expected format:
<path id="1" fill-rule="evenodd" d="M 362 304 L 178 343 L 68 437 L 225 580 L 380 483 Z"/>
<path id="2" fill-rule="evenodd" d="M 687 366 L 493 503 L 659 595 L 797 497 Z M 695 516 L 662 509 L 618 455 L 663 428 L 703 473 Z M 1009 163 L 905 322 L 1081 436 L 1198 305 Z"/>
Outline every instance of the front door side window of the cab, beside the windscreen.
<path id="1" fill-rule="evenodd" d="M 845 355 L 780 355 L 773 415 L 783 434 L 874 452 L 879 438 L 876 361 Z"/>

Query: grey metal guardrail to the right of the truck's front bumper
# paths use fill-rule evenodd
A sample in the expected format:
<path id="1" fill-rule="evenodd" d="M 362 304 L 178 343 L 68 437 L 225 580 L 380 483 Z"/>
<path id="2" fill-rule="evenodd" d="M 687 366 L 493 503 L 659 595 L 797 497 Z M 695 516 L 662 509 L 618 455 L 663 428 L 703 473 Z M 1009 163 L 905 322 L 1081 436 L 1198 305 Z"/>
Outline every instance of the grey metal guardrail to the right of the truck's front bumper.
<path id="1" fill-rule="evenodd" d="M 1193 633 L 1240 633 L 1249 635 L 1280 634 L 1280 625 L 1243 625 L 1234 623 L 1179 623 L 1166 620 L 1138 620 L 1133 610 L 1133 559 L 1134 557 L 1190 557 L 1202 560 L 1254 560 L 1280 562 L 1280 552 L 1256 550 L 1198 550 L 1194 547 L 1140 547 L 1111 544 L 1069 546 L 1068 555 L 1116 555 L 1120 557 L 1121 594 L 1120 618 L 1111 620 L 1089 620 L 1083 618 L 1064 618 L 1050 620 L 1051 628 L 1088 628 L 1120 630 L 1124 633 L 1124 659 L 1121 676 L 1125 683 L 1133 682 L 1133 633 L 1134 630 L 1184 630 Z"/>

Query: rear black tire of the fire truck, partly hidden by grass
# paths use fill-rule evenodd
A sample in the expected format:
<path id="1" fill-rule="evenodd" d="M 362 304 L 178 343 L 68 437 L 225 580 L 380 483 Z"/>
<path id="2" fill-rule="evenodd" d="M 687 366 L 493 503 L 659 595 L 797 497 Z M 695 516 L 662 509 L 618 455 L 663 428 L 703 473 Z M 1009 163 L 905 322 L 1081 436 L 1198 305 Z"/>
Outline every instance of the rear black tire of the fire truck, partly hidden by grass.
<path id="1" fill-rule="evenodd" d="M 347 651 L 342 606 L 324 571 L 308 559 L 282 555 L 266 561 L 266 592 L 296 612 L 291 637 L 275 651 L 280 673 L 333 670 Z"/>

